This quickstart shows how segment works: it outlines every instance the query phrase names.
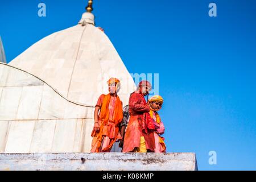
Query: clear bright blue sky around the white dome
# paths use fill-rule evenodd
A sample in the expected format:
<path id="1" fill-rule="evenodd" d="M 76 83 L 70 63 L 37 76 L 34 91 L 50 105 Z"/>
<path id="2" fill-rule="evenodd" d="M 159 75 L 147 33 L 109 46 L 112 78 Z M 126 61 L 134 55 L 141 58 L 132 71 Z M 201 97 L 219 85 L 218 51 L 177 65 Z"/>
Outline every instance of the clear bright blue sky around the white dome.
<path id="1" fill-rule="evenodd" d="M 217 17 L 208 16 L 210 2 Z M 77 24 L 86 4 L 1 1 L 7 61 Z M 93 13 L 130 73 L 159 73 L 168 152 L 195 152 L 201 170 L 256 169 L 255 0 L 95 0 Z"/>

